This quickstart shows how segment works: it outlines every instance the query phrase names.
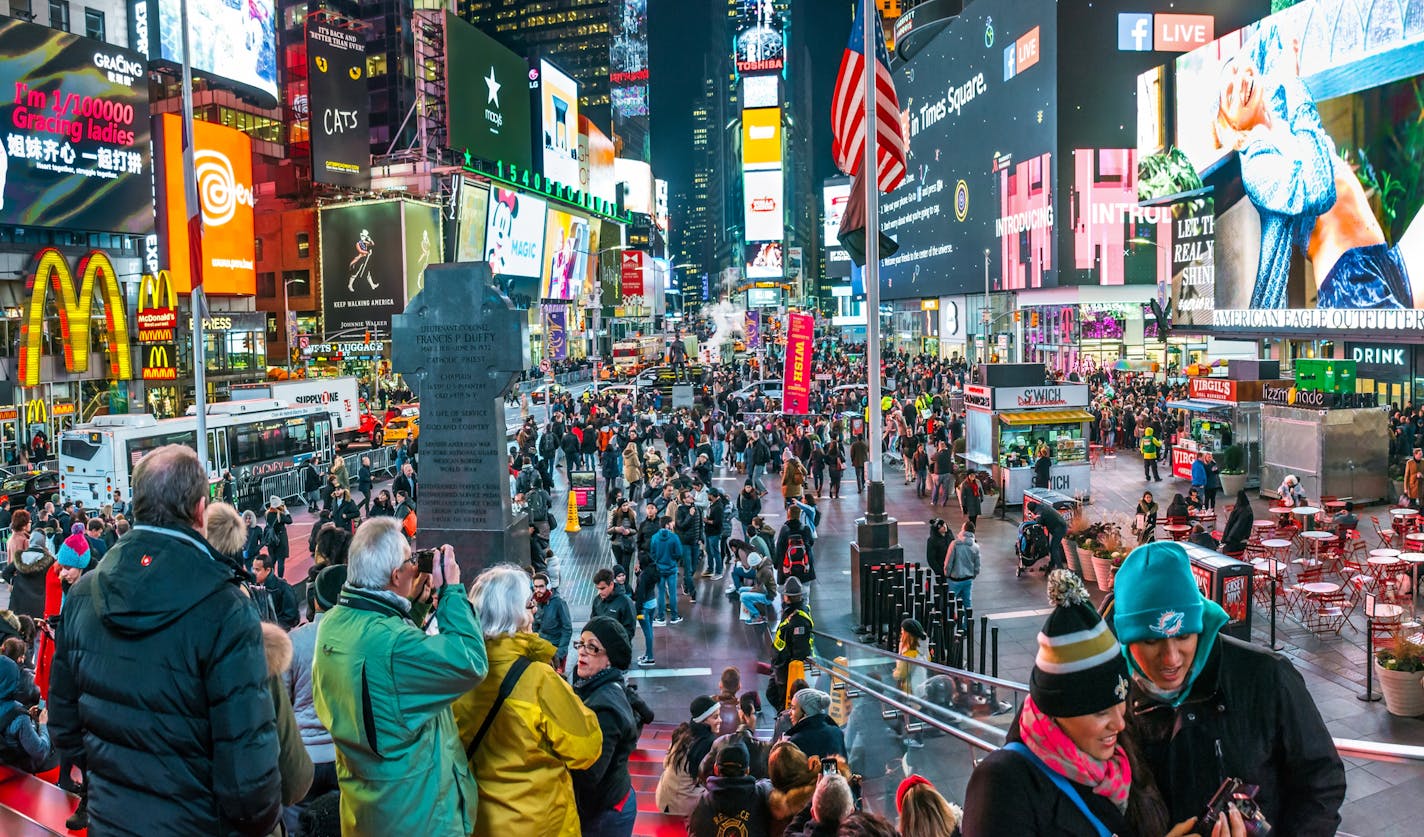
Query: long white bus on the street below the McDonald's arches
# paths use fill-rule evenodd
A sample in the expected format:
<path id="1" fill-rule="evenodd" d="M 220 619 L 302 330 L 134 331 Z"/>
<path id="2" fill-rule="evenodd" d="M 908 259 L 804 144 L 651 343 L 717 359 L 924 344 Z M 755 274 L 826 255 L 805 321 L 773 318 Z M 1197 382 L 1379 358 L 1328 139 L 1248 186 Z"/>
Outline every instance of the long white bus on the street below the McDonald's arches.
<path id="1" fill-rule="evenodd" d="M 95 416 L 60 434 L 60 494 L 97 508 L 122 493 L 134 497 L 131 474 L 138 460 L 165 444 L 197 450 L 195 416 L 157 420 L 147 413 Z M 256 480 L 320 456 L 335 456 L 332 414 L 318 406 L 253 399 L 208 406 L 209 480 L 232 471 L 239 493 Z M 266 498 L 262 498 L 265 501 Z M 261 502 L 261 501 L 259 501 Z"/>

